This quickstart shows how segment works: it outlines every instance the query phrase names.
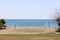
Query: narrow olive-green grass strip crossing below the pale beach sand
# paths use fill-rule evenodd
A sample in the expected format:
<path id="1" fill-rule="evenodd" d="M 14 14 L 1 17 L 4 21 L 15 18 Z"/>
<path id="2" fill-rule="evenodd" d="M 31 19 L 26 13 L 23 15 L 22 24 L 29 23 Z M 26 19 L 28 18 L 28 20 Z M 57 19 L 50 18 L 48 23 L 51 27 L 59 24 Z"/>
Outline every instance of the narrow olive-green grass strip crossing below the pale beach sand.
<path id="1" fill-rule="evenodd" d="M 60 37 L 60 34 L 0 34 L 8 37 Z"/>

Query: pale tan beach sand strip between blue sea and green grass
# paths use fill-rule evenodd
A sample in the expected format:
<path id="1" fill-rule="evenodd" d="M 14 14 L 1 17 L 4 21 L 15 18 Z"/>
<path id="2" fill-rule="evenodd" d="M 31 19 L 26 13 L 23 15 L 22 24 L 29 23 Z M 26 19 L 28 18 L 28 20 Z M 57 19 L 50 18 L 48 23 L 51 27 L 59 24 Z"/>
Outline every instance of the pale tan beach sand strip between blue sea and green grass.
<path id="1" fill-rule="evenodd" d="M 6 28 L 0 30 L 0 34 L 42 34 L 54 32 L 54 28 Z"/>

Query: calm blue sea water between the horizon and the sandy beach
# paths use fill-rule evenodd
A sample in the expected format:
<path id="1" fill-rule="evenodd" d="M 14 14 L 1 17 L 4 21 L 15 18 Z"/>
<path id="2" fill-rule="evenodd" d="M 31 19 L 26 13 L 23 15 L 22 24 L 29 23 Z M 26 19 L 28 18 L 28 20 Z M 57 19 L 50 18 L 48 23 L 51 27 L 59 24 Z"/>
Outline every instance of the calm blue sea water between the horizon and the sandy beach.
<path id="1" fill-rule="evenodd" d="M 5 19 L 9 27 L 57 27 L 56 21 L 47 19 Z"/>

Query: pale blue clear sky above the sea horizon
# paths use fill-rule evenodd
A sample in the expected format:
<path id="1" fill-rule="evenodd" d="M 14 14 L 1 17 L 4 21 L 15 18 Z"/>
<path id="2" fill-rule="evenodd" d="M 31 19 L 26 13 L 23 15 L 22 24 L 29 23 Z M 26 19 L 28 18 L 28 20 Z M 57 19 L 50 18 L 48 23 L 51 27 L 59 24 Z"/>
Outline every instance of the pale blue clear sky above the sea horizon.
<path id="1" fill-rule="evenodd" d="M 60 0 L 0 0 L 0 18 L 53 19 Z"/>

